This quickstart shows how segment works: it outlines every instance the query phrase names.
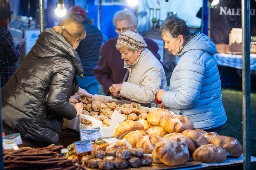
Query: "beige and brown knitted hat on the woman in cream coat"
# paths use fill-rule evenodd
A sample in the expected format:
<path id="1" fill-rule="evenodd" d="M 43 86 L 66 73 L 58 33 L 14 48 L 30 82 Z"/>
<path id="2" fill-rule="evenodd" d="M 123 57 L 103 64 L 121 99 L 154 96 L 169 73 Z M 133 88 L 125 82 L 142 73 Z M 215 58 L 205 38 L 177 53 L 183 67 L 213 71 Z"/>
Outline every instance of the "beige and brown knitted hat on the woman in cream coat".
<path id="1" fill-rule="evenodd" d="M 136 51 L 142 51 L 147 47 L 141 35 L 131 31 L 121 33 L 116 43 Z"/>

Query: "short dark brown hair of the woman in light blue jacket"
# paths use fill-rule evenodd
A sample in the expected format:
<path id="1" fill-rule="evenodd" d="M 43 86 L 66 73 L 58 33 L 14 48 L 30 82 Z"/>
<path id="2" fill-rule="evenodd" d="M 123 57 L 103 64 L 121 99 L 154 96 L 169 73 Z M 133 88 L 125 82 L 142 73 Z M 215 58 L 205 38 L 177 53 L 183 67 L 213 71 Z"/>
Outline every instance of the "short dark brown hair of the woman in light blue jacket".
<path id="1" fill-rule="evenodd" d="M 191 36 L 191 32 L 186 22 L 179 17 L 167 17 L 160 27 L 159 34 L 161 37 L 163 34 L 169 34 L 173 38 L 182 35 L 185 41 L 189 40 Z"/>

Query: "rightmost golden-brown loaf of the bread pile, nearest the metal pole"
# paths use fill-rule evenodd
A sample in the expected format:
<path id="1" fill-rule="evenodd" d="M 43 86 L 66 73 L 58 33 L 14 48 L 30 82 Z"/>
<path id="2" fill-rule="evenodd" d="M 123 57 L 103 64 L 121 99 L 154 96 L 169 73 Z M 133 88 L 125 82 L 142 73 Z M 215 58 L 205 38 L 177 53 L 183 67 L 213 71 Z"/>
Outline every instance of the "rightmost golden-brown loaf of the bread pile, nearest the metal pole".
<path id="1" fill-rule="evenodd" d="M 232 157 L 240 157 L 243 153 L 243 146 L 236 138 L 219 135 L 212 138 L 211 143 L 225 149 Z"/>

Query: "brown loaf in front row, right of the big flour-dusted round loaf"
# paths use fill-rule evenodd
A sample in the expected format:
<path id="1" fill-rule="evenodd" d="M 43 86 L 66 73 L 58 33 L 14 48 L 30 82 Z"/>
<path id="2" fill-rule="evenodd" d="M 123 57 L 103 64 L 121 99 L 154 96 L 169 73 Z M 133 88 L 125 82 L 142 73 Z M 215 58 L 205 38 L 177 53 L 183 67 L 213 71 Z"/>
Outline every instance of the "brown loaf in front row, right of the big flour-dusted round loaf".
<path id="1" fill-rule="evenodd" d="M 193 153 L 193 160 L 203 163 L 223 162 L 226 160 L 226 151 L 214 144 L 201 145 Z"/>

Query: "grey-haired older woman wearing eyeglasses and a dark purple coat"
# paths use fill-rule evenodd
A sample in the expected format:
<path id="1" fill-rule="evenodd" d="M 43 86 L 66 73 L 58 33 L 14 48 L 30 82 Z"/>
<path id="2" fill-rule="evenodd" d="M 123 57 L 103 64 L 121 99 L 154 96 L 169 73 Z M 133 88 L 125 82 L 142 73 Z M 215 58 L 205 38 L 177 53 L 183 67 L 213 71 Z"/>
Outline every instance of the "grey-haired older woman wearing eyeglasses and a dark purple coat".
<path id="1" fill-rule="evenodd" d="M 115 32 L 118 33 L 118 36 L 126 31 L 137 32 L 138 19 L 132 12 L 121 10 L 115 13 L 113 25 L 116 26 Z M 99 59 L 98 65 L 93 70 L 98 82 L 103 86 L 103 92 L 106 95 L 111 95 L 109 87 L 113 84 L 123 83 L 123 81 L 128 78 L 128 75 L 125 77 L 128 71 L 124 68 L 124 62 L 121 59 L 120 52 L 116 49 L 118 36 L 107 40 L 103 44 L 100 51 L 101 58 Z M 148 45 L 148 50 L 160 60 L 160 55 L 157 53 L 157 43 L 149 38 L 143 39 Z"/>

